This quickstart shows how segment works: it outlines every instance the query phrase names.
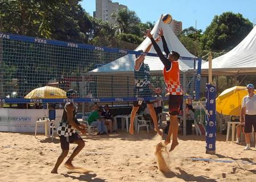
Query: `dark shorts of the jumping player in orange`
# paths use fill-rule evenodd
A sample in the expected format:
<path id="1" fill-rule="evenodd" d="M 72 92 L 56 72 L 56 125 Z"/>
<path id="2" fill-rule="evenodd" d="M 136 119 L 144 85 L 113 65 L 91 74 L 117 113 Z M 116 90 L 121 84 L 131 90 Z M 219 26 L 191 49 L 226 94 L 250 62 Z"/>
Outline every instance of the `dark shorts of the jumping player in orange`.
<path id="1" fill-rule="evenodd" d="M 183 95 L 169 95 L 169 110 L 171 115 L 178 115 L 183 103 Z"/>

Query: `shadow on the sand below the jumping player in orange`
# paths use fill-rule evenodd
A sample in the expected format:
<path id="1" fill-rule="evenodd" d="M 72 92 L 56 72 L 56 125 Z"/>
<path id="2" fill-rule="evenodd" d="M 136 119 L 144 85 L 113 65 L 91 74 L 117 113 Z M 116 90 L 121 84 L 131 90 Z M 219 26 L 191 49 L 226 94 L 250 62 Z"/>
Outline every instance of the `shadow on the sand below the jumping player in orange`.
<path id="1" fill-rule="evenodd" d="M 187 172 L 185 172 L 184 170 L 182 170 L 181 168 L 177 168 L 179 169 L 180 173 L 175 173 L 175 172 L 164 172 L 163 175 L 166 176 L 167 178 L 173 178 L 173 177 L 177 177 L 179 179 L 183 179 L 185 181 L 206 181 L 206 182 L 217 182 L 214 179 L 209 179 L 207 176 L 194 176 L 191 175 Z"/>

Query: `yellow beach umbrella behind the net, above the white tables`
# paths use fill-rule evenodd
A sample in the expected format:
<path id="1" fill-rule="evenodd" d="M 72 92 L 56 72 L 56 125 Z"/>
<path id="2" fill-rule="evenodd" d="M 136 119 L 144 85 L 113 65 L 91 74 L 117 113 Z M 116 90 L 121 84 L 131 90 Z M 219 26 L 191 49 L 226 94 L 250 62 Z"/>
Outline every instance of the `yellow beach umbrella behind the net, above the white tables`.
<path id="1" fill-rule="evenodd" d="M 36 88 L 24 98 L 67 98 L 66 92 L 53 86 L 43 86 Z"/>

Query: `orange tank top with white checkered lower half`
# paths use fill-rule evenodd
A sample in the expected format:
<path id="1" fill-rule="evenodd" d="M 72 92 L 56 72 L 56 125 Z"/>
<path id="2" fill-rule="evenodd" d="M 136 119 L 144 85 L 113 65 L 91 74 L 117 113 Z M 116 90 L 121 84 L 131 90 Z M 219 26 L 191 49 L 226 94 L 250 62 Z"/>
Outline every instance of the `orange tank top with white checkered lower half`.
<path id="1" fill-rule="evenodd" d="M 166 82 L 167 92 L 171 95 L 183 95 L 180 84 L 180 69 L 178 61 L 172 61 L 169 71 L 163 69 L 164 82 Z"/>

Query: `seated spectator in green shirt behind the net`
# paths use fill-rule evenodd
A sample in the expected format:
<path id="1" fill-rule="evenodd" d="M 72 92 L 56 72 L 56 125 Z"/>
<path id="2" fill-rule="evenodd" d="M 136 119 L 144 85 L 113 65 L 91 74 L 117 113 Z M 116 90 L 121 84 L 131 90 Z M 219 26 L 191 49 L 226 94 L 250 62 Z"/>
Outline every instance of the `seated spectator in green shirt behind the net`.
<path id="1" fill-rule="evenodd" d="M 95 105 L 94 105 L 95 106 Z M 93 110 L 88 117 L 88 123 L 90 126 L 97 127 L 97 135 L 106 134 L 105 122 L 101 118 L 102 109 Z"/>

